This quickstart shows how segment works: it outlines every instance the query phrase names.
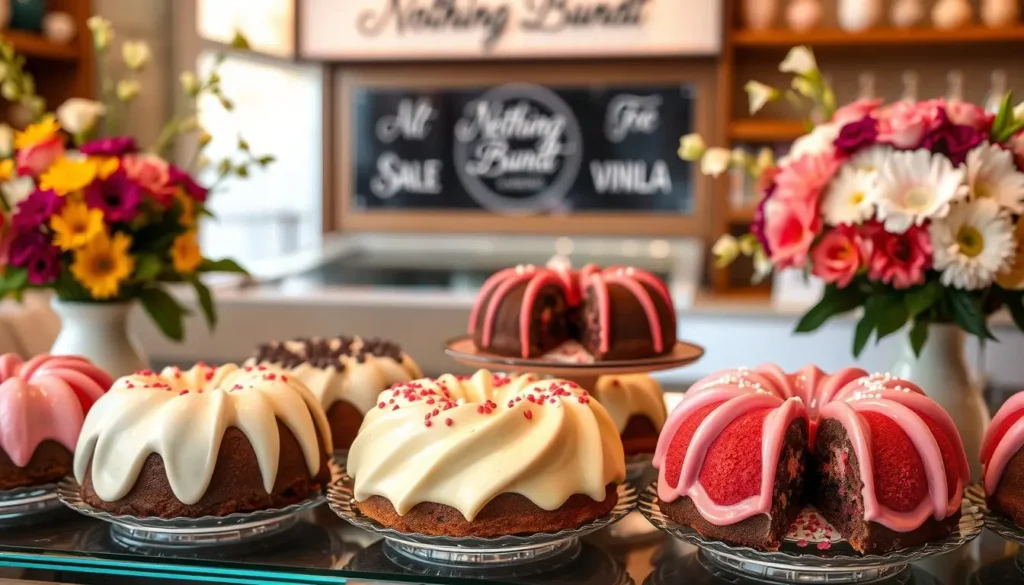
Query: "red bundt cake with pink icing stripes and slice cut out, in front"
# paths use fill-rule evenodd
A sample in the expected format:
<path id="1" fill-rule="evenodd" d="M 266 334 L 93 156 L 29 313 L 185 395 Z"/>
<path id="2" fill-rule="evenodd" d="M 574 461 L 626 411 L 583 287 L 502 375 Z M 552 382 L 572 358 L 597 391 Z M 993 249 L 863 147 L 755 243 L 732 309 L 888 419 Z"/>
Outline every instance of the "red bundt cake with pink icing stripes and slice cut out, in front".
<path id="1" fill-rule="evenodd" d="M 662 510 L 709 538 L 775 550 L 812 504 L 860 552 L 941 538 L 970 477 L 949 415 L 888 374 L 809 366 L 694 384 L 658 440 Z"/>

